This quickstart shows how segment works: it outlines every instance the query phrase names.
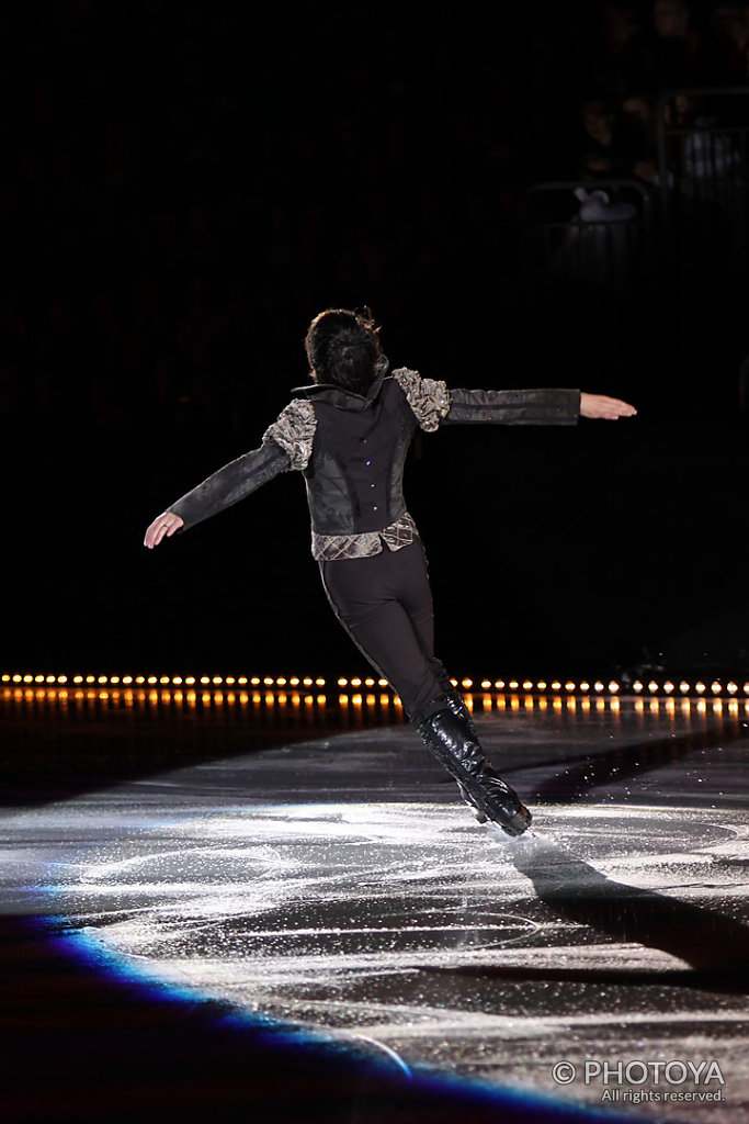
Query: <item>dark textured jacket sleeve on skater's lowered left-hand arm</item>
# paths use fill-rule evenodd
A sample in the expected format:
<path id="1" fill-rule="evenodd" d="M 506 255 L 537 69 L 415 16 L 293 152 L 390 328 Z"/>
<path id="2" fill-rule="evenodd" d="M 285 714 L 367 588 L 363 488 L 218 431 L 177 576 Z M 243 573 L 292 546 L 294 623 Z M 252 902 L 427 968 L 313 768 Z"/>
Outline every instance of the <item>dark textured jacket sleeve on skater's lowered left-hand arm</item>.
<path id="1" fill-rule="evenodd" d="M 185 528 L 194 527 L 209 516 L 237 504 L 290 466 L 289 454 L 275 441 L 266 441 L 259 448 L 244 453 L 213 472 L 167 510 L 179 515 Z"/>

